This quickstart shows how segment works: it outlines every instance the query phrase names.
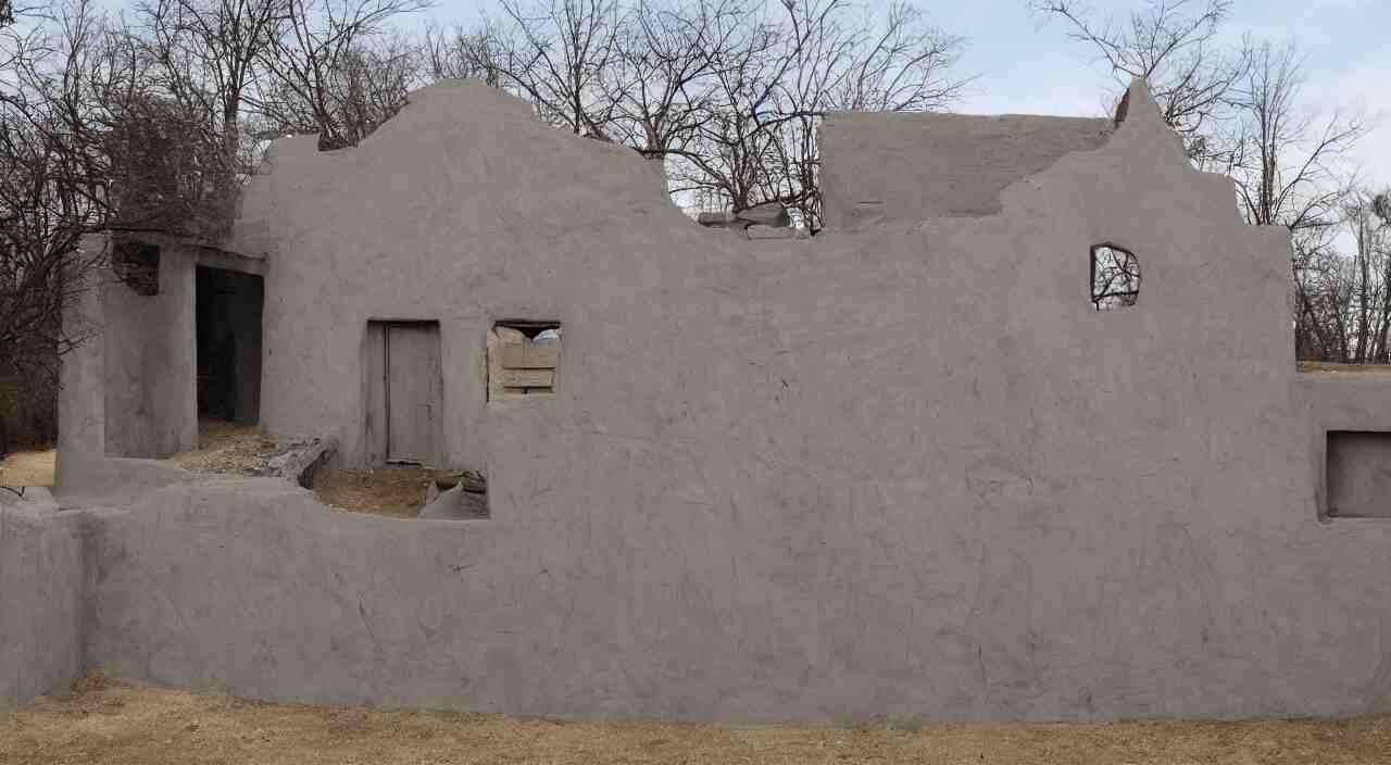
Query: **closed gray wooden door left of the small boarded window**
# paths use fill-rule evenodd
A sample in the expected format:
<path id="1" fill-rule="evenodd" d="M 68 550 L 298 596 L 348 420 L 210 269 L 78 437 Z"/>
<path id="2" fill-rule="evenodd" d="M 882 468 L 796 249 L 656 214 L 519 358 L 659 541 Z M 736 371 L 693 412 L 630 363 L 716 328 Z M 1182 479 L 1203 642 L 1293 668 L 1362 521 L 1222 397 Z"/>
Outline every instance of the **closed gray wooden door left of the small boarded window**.
<path id="1" fill-rule="evenodd" d="M 434 465 L 440 431 L 440 325 L 385 327 L 387 462 Z"/>

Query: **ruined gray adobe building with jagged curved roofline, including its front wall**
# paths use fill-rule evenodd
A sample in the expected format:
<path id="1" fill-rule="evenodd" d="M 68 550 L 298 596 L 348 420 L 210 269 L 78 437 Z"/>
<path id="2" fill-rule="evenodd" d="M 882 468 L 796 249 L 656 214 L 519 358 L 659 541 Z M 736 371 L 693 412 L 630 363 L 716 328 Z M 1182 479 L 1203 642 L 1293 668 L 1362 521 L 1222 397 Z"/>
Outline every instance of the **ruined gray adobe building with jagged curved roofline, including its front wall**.
<path id="1" fill-rule="evenodd" d="M 277 142 L 228 242 L 121 245 L 74 312 L 0 707 L 102 668 L 577 718 L 1391 709 L 1391 378 L 1296 371 L 1288 232 L 1127 104 L 832 115 L 814 238 L 702 228 L 476 82 Z M 200 409 L 476 470 L 485 517 L 154 459 Z"/>

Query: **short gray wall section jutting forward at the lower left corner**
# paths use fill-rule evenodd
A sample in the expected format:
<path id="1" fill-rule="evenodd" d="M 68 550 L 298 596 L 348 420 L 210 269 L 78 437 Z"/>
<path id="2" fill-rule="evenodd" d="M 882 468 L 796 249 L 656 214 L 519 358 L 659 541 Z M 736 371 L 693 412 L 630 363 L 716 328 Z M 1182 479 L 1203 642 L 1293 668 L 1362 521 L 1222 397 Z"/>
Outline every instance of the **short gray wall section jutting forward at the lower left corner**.
<path id="1" fill-rule="evenodd" d="M 0 491 L 0 712 L 81 675 L 81 520 Z"/>

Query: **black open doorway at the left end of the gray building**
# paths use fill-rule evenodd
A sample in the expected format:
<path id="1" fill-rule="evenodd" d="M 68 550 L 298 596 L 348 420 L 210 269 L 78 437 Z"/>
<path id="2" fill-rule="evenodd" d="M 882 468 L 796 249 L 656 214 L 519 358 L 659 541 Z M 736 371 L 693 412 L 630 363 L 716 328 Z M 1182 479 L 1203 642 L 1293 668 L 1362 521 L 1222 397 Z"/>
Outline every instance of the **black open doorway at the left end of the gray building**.
<path id="1" fill-rule="evenodd" d="M 260 420 L 262 277 L 198 267 L 198 416 Z"/>

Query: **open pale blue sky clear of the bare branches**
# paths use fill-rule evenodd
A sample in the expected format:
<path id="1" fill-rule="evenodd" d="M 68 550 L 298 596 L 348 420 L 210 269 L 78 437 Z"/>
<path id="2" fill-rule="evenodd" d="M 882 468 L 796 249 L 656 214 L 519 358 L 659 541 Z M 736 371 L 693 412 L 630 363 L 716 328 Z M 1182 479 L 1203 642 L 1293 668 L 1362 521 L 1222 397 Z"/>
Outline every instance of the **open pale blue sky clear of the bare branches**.
<path id="1" fill-rule="evenodd" d="M 869 0 L 874 1 L 874 0 Z M 957 111 L 974 114 L 1097 115 L 1114 90 L 1104 64 L 1067 36 L 1061 19 L 1043 19 L 1027 0 L 918 0 L 947 32 L 967 38 L 960 74 L 976 75 Z M 1091 0 L 1100 13 L 1125 14 L 1127 0 Z M 494 0 L 438 0 L 442 24 L 472 24 Z M 1349 161 L 1365 181 L 1391 185 L 1391 0 L 1235 0 L 1223 35 L 1232 43 L 1294 39 L 1308 56 L 1308 107 L 1331 115 L 1360 111 L 1374 122 Z"/>

